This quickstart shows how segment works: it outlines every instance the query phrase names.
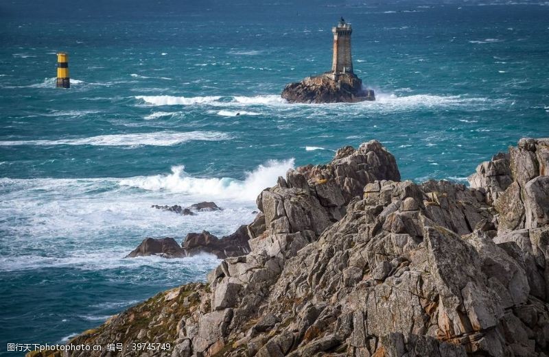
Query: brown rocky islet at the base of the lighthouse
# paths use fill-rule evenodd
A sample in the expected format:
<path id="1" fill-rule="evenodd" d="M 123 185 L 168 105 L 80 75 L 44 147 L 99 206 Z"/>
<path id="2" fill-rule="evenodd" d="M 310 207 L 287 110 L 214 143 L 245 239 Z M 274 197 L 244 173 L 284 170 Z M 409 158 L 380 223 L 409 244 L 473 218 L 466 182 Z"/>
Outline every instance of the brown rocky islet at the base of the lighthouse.
<path id="1" fill-rule="evenodd" d="M 336 76 L 325 73 L 307 77 L 301 82 L 285 86 L 282 97 L 290 103 L 353 103 L 375 100 L 373 90 L 364 90 L 362 80 L 353 73 Z"/>

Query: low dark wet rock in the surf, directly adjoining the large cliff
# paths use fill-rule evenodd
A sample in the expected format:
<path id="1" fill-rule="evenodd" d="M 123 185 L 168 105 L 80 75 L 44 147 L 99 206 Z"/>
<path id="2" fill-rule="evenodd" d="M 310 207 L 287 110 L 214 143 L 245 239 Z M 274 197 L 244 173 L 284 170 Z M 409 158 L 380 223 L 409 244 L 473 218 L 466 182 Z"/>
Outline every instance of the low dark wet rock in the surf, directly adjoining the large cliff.
<path id="1" fill-rule="evenodd" d="M 218 238 L 210 232 L 189 233 L 183 241 L 183 249 L 187 256 L 194 256 L 200 253 L 211 253 L 224 259 L 230 256 L 244 256 L 250 251 L 248 245 L 248 227 L 241 225 L 236 232 L 230 236 Z"/>

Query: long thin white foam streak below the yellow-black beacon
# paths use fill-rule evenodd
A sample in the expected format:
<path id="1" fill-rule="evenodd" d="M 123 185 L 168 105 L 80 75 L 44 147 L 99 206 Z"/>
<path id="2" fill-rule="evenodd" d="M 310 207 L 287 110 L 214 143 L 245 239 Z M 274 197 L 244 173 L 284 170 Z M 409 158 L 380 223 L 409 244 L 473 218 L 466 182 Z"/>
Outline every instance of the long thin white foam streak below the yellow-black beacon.
<path id="1" fill-rule="evenodd" d="M 60 140 L 3 140 L 0 146 L 15 145 L 94 145 L 94 146 L 172 146 L 188 141 L 230 140 L 229 134 L 222 132 L 152 132 L 134 134 L 110 134 Z"/>

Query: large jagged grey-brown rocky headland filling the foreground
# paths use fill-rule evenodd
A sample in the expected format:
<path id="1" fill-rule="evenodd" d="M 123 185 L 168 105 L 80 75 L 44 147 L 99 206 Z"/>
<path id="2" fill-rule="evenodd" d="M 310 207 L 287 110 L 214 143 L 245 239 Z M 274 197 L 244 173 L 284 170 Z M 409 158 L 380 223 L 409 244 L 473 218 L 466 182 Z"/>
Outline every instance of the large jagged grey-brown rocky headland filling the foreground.
<path id="1" fill-rule="evenodd" d="M 259 194 L 249 254 L 69 344 L 171 343 L 147 352 L 171 357 L 548 356 L 548 165 L 549 139 L 522 139 L 480 164 L 471 187 L 417 184 L 400 181 L 377 141 L 344 147 Z"/>

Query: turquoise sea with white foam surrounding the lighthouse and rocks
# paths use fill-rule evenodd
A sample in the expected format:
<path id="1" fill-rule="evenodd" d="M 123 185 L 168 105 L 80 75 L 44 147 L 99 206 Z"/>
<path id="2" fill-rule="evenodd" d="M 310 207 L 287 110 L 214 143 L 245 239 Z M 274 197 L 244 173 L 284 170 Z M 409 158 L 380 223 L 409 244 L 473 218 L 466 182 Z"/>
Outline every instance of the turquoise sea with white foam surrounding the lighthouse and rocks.
<path id="1" fill-rule="evenodd" d="M 330 68 L 339 16 L 378 100 L 284 103 Z M 123 257 L 146 236 L 233 232 L 278 175 L 342 145 L 376 138 L 404 179 L 465 182 L 549 136 L 548 19 L 547 2 L 1 1 L 0 354 L 204 280 L 211 256 Z M 225 209 L 150 208 L 205 199 Z"/>

